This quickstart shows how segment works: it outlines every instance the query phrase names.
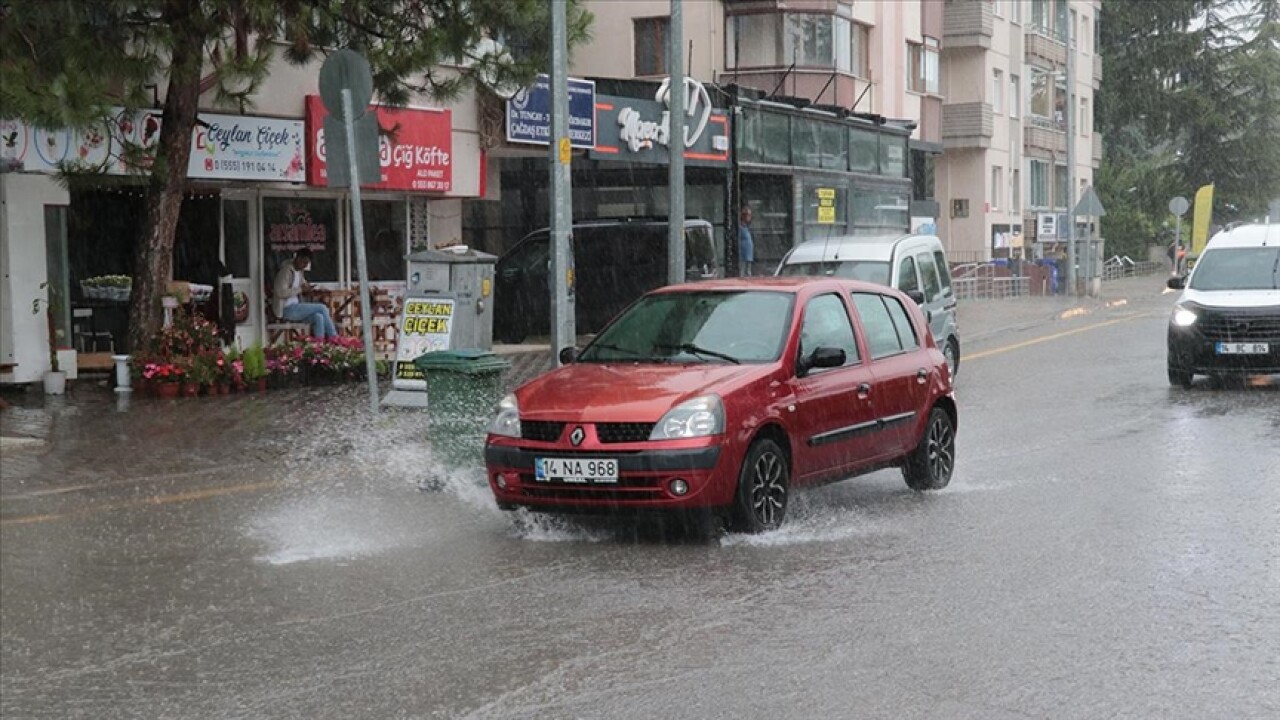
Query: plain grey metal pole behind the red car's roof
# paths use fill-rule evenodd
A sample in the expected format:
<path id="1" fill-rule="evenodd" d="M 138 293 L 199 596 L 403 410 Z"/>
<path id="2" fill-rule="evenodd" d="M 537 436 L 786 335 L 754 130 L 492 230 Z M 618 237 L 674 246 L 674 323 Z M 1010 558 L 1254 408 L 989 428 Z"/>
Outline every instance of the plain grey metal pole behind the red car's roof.
<path id="1" fill-rule="evenodd" d="M 667 109 L 669 110 L 667 163 L 667 282 L 685 282 L 685 61 L 682 0 L 671 0 L 667 42 Z"/>

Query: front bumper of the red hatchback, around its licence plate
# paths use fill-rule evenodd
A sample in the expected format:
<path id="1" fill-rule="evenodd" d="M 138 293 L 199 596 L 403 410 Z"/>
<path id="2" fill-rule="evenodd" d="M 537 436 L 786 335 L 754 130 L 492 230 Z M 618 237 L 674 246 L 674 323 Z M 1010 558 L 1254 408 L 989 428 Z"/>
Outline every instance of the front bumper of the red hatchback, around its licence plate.
<path id="1" fill-rule="evenodd" d="M 590 450 L 529 446 L 516 438 L 490 438 L 485 445 L 489 489 L 499 505 L 526 506 L 558 512 L 622 510 L 694 510 L 732 502 L 737 488 L 736 468 L 719 445 Z M 616 459 L 616 483 L 566 483 L 538 480 L 538 457 Z M 687 483 L 685 495 L 672 489 L 675 480 Z"/>

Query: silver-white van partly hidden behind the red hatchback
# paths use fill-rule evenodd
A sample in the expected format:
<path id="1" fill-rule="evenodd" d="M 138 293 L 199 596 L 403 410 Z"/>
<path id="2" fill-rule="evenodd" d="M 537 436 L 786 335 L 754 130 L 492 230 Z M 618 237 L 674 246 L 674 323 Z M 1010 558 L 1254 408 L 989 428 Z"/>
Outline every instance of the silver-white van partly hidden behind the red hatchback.
<path id="1" fill-rule="evenodd" d="M 845 236 L 794 247 L 778 275 L 833 275 L 895 287 L 929 318 L 929 329 L 954 378 L 960 369 L 956 296 L 942 241 L 932 234 Z"/>

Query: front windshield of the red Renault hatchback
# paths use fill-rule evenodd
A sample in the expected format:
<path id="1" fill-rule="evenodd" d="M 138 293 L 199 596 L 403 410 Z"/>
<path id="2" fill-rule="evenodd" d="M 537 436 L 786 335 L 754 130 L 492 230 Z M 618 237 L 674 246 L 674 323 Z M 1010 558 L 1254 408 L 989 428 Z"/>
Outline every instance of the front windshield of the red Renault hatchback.
<path id="1" fill-rule="evenodd" d="M 579 356 L 580 363 L 771 363 L 782 354 L 792 295 L 700 291 L 650 295 Z"/>

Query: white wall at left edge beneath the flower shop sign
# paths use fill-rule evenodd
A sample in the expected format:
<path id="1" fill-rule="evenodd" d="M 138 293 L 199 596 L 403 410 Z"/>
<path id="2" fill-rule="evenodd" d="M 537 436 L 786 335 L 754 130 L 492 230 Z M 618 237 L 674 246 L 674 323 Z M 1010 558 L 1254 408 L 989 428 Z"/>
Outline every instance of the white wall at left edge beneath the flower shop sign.
<path id="1" fill-rule="evenodd" d="M 0 176 L 0 364 L 13 364 L 0 382 L 29 383 L 49 370 L 45 314 L 31 302 L 45 297 L 45 205 L 68 205 L 58 181 L 45 176 Z"/>

